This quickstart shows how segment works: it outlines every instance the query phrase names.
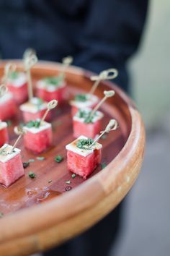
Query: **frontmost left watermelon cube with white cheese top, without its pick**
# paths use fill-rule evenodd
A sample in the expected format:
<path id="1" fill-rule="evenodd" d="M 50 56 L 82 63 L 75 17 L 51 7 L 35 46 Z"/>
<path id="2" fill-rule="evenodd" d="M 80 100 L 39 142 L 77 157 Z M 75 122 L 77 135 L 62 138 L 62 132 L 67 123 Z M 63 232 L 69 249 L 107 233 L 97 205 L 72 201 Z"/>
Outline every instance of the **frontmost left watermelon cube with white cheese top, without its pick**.
<path id="1" fill-rule="evenodd" d="M 12 146 L 8 144 L 0 148 L 0 183 L 5 187 L 9 187 L 24 175 L 21 150 L 14 148 L 10 153 L 11 150 Z"/>

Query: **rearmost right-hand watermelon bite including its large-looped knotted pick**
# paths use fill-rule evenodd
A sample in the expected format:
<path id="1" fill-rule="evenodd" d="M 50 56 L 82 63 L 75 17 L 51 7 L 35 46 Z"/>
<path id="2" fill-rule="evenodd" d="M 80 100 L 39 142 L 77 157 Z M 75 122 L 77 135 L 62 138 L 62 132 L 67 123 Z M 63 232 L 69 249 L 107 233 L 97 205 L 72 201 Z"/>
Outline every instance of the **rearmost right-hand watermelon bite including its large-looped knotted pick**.
<path id="1" fill-rule="evenodd" d="M 76 115 L 79 108 L 94 108 L 97 106 L 99 98 L 94 95 L 95 90 L 99 85 L 99 82 L 102 80 L 111 80 L 117 77 L 118 72 L 117 69 L 107 69 L 102 72 L 98 76 L 90 77 L 94 82 L 94 85 L 91 87 L 89 93 L 78 94 L 74 97 L 73 101 L 70 101 L 71 104 L 71 114 L 72 116 Z"/>

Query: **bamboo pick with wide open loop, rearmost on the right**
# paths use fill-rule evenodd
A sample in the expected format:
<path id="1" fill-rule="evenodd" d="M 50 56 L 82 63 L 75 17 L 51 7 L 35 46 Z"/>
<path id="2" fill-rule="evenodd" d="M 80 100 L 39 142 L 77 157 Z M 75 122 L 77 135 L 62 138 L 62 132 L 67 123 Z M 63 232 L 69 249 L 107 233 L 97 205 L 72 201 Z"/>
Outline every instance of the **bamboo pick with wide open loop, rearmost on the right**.
<path id="1" fill-rule="evenodd" d="M 89 91 L 89 94 L 93 95 L 94 91 L 97 89 L 99 82 L 102 80 L 111 80 L 116 78 L 118 75 L 117 69 L 107 69 L 102 72 L 98 76 L 92 76 L 90 77 L 91 81 L 96 81 L 94 82 L 94 85 L 92 86 L 91 90 Z"/>

